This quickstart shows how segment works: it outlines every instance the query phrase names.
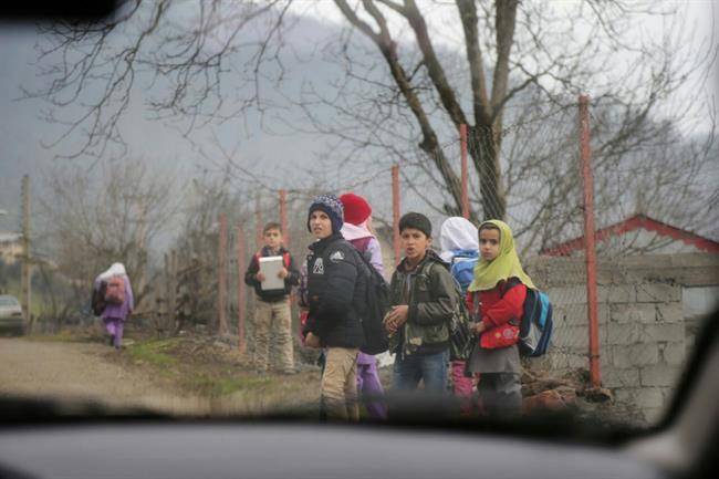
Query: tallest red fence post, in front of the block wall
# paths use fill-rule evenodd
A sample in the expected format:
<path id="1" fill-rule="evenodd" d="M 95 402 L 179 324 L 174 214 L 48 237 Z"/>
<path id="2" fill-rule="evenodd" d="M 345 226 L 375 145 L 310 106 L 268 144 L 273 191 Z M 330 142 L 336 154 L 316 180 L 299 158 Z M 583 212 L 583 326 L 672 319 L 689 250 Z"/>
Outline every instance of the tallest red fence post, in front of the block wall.
<path id="1" fill-rule="evenodd" d="M 590 148 L 590 97 L 580 95 L 580 145 L 584 180 L 584 239 L 586 258 L 586 301 L 590 320 L 590 377 L 592 385 L 602 384 L 600 371 L 600 325 L 596 291 L 596 250 L 594 227 L 594 176 Z"/>

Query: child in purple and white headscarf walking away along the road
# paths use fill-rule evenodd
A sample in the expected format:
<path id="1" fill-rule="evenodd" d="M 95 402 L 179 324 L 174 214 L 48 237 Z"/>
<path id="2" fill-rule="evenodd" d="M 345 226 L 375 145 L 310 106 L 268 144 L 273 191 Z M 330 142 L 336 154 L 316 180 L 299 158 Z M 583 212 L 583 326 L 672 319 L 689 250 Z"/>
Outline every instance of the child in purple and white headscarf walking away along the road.
<path id="1" fill-rule="evenodd" d="M 95 290 L 105 283 L 105 309 L 101 317 L 110 333 L 110 344 L 119 350 L 125 321 L 135 309 L 135 298 L 129 278 L 122 263 L 114 263 L 95 279 Z"/>

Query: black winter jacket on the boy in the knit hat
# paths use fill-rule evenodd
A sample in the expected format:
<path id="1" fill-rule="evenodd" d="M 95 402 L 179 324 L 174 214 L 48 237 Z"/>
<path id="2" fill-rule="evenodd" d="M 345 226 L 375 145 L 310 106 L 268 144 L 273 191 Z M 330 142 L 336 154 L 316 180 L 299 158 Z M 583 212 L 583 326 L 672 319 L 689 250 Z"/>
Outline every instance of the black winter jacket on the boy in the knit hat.
<path id="1" fill-rule="evenodd" d="M 310 250 L 305 333 L 317 335 L 323 346 L 362 347 L 364 332 L 358 311 L 367 287 L 359 273 L 362 259 L 338 233 L 311 244 Z"/>

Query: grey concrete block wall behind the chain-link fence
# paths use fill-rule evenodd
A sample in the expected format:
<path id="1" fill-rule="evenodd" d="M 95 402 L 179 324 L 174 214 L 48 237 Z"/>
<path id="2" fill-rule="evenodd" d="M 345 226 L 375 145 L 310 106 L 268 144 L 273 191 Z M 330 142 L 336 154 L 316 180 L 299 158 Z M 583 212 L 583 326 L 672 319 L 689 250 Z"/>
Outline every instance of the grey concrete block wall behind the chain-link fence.
<path id="1" fill-rule="evenodd" d="M 598 264 L 602 383 L 612 389 L 615 402 L 638 409 L 648 423 L 664 412 L 688 357 L 681 289 L 697 278 L 719 279 L 719 256 L 705 257 L 647 256 Z M 528 264 L 528 270 L 554 308 L 552 347 L 546 357 L 531 361 L 531 367 L 556 374 L 588 369 L 582 260 L 541 259 Z"/>

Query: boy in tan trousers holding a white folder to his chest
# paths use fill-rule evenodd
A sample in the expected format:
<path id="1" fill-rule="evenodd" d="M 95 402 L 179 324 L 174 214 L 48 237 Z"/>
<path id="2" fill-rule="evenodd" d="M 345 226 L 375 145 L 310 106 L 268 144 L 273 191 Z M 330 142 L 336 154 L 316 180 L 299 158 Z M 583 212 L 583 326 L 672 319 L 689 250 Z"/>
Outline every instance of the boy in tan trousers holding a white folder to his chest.
<path id="1" fill-rule="evenodd" d="M 300 273 L 294 268 L 290 252 L 282 246 L 282 230 L 277 222 L 269 222 L 262 230 L 264 247 L 252 256 L 250 265 L 244 273 L 244 283 L 254 287 L 257 309 L 254 311 L 254 356 L 253 363 L 259 374 L 268 368 L 268 351 L 270 333 L 277 337 L 277 351 L 280 354 L 278 363 L 284 374 L 293 374 L 294 356 L 292 352 L 292 316 L 290 313 L 290 291 L 299 284 Z M 262 289 L 265 280 L 260 272 L 260 258 L 282 257 L 283 268 L 278 273 L 284 279 L 284 288 L 275 290 Z"/>

